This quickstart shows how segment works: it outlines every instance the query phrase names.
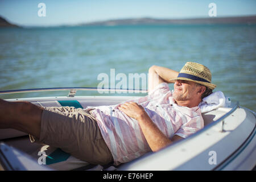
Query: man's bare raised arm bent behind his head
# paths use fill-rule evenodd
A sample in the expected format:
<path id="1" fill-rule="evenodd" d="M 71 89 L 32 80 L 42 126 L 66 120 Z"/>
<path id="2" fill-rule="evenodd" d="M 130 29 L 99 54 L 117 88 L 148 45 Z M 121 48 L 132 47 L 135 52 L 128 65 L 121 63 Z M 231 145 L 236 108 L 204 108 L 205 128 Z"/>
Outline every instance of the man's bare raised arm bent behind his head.
<path id="1" fill-rule="evenodd" d="M 148 92 L 151 92 L 151 90 L 162 82 L 173 83 L 174 81 L 170 81 L 170 79 L 176 78 L 177 75 L 179 75 L 177 71 L 152 65 L 152 67 L 148 69 Z"/>

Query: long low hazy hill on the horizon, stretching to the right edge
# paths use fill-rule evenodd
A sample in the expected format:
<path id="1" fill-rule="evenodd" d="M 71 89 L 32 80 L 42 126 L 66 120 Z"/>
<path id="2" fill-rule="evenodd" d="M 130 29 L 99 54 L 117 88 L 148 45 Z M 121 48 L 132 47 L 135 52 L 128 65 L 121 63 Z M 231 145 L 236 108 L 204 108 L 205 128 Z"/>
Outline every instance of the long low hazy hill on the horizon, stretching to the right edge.
<path id="1" fill-rule="evenodd" d="M 131 18 L 82 23 L 81 26 L 115 26 L 135 24 L 256 24 L 256 16 L 239 16 L 225 18 L 192 18 L 192 19 L 154 19 Z"/>

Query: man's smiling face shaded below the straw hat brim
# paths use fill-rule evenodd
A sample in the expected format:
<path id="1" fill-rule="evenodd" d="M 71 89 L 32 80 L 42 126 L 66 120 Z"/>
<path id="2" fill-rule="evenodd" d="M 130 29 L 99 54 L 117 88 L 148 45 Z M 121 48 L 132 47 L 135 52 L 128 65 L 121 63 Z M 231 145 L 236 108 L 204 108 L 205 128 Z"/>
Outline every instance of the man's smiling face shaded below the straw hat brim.
<path id="1" fill-rule="evenodd" d="M 175 101 L 187 101 L 196 96 L 197 84 L 193 81 L 177 80 L 174 83 L 173 97 Z"/>

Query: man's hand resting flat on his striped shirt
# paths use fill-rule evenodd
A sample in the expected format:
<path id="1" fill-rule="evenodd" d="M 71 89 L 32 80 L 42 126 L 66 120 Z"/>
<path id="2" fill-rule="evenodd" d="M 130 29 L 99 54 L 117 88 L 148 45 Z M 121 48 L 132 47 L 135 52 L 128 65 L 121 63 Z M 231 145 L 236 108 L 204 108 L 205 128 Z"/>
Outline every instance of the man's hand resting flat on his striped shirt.
<path id="1" fill-rule="evenodd" d="M 142 115 L 146 113 L 144 108 L 136 102 L 125 102 L 125 104 L 120 105 L 118 109 L 134 119 L 141 118 Z"/>

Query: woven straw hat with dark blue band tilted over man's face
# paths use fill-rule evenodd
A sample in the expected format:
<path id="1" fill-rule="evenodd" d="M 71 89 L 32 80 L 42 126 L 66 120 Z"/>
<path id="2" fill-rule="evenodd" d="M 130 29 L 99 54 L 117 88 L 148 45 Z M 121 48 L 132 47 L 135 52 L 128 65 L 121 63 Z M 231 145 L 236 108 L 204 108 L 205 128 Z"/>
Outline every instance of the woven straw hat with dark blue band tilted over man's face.
<path id="1" fill-rule="evenodd" d="M 188 80 L 198 84 L 209 87 L 210 89 L 216 88 L 216 85 L 212 84 L 212 73 L 209 68 L 203 64 L 187 62 L 183 68 L 181 68 L 177 78 L 170 80 Z"/>

